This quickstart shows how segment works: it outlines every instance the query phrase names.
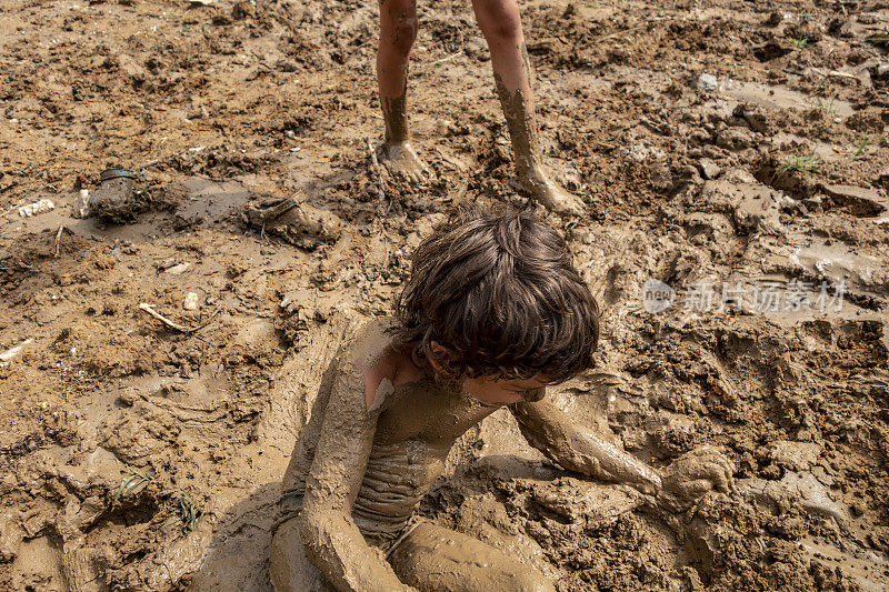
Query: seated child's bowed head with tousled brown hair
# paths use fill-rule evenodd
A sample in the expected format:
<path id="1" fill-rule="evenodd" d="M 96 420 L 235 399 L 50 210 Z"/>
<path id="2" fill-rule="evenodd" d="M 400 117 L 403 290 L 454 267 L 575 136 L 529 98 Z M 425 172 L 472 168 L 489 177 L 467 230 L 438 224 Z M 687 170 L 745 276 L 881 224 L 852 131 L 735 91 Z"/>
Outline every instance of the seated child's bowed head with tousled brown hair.
<path id="1" fill-rule="evenodd" d="M 513 392 L 590 368 L 599 337 L 568 245 L 529 212 L 462 212 L 438 229 L 413 254 L 396 314 L 398 341 L 443 378 Z"/>

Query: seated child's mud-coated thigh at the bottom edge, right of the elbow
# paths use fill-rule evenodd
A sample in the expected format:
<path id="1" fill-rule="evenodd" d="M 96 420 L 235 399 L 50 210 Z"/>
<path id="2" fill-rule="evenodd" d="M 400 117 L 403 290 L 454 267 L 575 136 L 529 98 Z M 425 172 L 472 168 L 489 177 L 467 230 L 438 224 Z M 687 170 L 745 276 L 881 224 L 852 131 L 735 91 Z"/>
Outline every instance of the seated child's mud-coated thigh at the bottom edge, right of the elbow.
<path id="1" fill-rule="evenodd" d="M 421 592 L 555 592 L 542 573 L 459 532 L 420 523 L 389 556 Z"/>

